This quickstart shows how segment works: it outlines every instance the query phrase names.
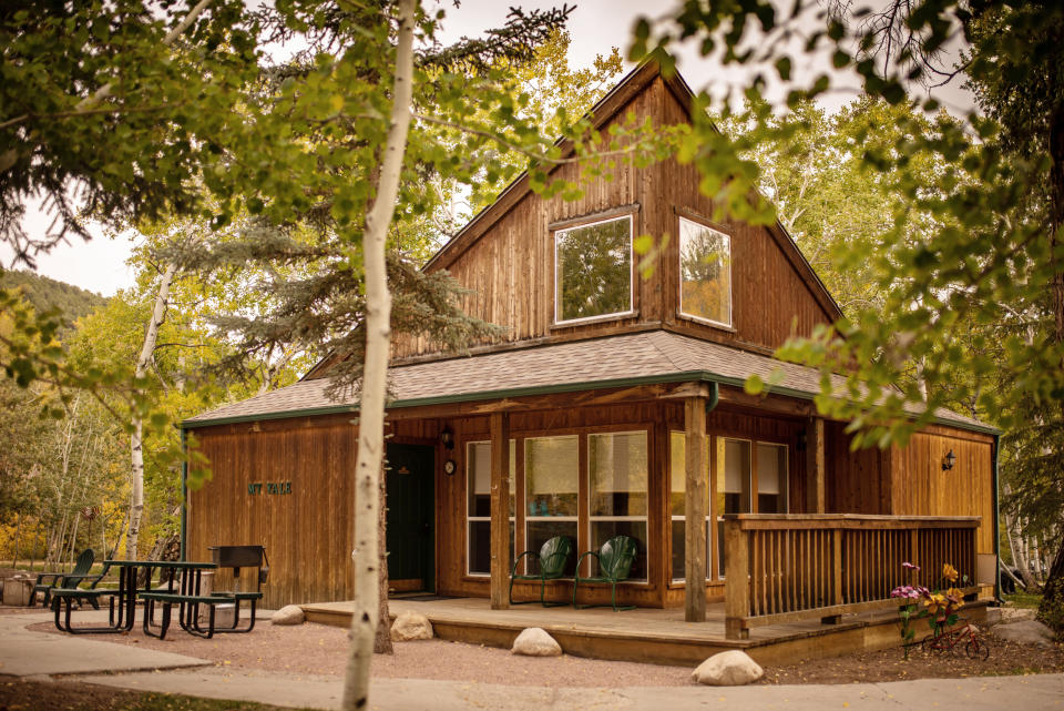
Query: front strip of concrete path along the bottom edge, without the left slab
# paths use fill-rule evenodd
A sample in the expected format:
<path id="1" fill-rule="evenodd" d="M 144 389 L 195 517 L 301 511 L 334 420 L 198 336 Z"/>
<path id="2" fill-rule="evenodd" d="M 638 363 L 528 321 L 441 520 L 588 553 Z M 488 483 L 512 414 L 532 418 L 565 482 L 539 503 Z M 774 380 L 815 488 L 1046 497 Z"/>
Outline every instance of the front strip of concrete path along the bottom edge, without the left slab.
<path id="1" fill-rule="evenodd" d="M 296 708 L 339 709 L 342 683 L 218 668 L 88 677 L 99 684 L 215 699 L 243 699 Z M 795 687 L 631 687 L 548 689 L 422 679 L 377 679 L 370 709 L 378 711 L 610 711 L 615 709 L 763 709 L 773 711 L 1064 711 L 1064 674 L 924 679 L 879 684 Z"/>

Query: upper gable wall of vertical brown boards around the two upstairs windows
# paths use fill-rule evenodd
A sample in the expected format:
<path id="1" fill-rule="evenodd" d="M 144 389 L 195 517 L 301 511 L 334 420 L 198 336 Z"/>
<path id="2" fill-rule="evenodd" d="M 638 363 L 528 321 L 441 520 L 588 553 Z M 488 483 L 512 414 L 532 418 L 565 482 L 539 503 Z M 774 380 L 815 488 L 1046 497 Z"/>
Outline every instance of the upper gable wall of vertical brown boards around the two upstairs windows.
<path id="1" fill-rule="evenodd" d="M 661 77 L 621 108 L 602 133 L 605 135 L 611 125 L 625 123 L 630 113 L 658 124 L 687 121 L 685 109 Z M 580 172 L 580 166 L 565 164 L 552 176 L 579 181 Z M 717 225 L 732 237 L 733 327 L 679 317 L 677 211 L 704 217 L 714 214 L 713 201 L 698 190 L 698 171 L 675 160 L 637 169 L 631 161 L 618 159 L 608 172 L 611 180 L 597 177 L 582 184 L 584 194 L 575 201 L 524 195 L 457 257 L 447 256 L 430 268 L 446 267 L 471 290 L 463 298 L 463 309 L 505 326 L 509 331 L 501 339 L 503 344 L 610 335 L 665 324 L 697 337 L 769 353 L 792 333 L 808 335 L 816 324 L 832 321 L 806 281 L 811 277 L 800 275 L 792 264 L 792 260 L 800 260 L 797 247 L 788 242 L 785 253 L 780 246 L 780 241 L 789 238 L 774 235 L 767 227 L 736 222 Z M 653 273 L 644 277 L 636 270 L 635 315 L 554 326 L 554 238 L 550 225 L 624 206 L 632 209 L 633 236 L 651 234 L 665 244 Z M 634 255 L 633 261 L 637 264 L 640 256 Z M 436 346 L 423 338 L 397 339 L 393 346 L 397 358 L 434 351 Z"/>

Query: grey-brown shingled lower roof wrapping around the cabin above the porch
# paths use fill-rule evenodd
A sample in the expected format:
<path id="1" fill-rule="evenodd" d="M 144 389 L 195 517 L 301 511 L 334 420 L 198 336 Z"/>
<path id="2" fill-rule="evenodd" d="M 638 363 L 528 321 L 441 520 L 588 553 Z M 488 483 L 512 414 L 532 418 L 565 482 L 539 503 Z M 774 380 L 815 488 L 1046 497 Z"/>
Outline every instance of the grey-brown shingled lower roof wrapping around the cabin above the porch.
<path id="1" fill-rule="evenodd" d="M 810 399 L 820 392 L 820 372 L 816 368 L 666 331 L 651 331 L 392 367 L 389 377 L 395 399 L 388 407 L 688 379 L 741 387 L 750 375 L 757 374 L 768 380 L 777 370 L 784 378 L 773 386 L 776 394 Z M 842 378 L 838 378 L 840 390 L 842 383 Z M 332 400 L 326 394 L 328 387 L 327 378 L 303 380 L 191 417 L 183 426 L 206 427 L 231 421 L 355 412 L 358 408 L 356 394 Z M 996 431 L 979 420 L 945 409 L 939 409 L 935 418 L 964 429 Z"/>

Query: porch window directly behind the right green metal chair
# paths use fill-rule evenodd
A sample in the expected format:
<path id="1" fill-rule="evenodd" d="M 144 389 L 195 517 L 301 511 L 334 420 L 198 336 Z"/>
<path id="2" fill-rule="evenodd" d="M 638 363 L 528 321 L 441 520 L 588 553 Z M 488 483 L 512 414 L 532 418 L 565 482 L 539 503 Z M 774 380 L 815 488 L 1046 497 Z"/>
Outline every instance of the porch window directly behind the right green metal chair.
<path id="1" fill-rule="evenodd" d="M 637 547 L 633 580 L 646 580 L 646 453 L 645 431 L 587 436 L 591 550 L 614 536 L 632 538 Z"/>

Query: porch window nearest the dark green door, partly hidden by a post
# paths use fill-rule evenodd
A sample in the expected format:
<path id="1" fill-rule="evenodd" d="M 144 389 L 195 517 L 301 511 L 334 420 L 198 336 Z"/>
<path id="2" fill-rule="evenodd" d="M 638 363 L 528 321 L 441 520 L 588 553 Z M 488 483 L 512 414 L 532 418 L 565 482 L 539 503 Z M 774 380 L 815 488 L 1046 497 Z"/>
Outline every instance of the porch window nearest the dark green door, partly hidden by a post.
<path id="1" fill-rule="evenodd" d="M 514 548 L 514 454 L 510 440 L 510 549 Z M 471 576 L 491 575 L 491 443 L 470 441 L 466 446 L 466 514 L 468 518 L 467 556 Z M 513 553 L 515 555 L 515 553 Z"/>

